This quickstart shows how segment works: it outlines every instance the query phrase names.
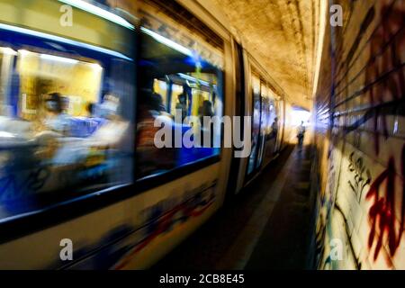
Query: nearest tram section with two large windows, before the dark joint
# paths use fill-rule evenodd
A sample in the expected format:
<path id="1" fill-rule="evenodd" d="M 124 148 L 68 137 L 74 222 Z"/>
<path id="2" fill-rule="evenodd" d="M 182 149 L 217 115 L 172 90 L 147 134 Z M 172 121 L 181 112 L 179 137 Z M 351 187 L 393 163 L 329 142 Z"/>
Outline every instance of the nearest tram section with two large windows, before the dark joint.
<path id="1" fill-rule="evenodd" d="M 48 14 L 56 4 L 47 0 L 22 11 Z M 83 27 L 111 25 L 76 8 L 74 13 L 81 15 Z M 49 27 L 58 26 L 57 17 L 47 19 Z M 18 231 L 0 227 L 10 232 L 2 233 L 2 268 L 152 265 L 220 207 L 222 171 L 228 165 L 220 162 L 220 148 L 156 149 L 150 135 L 156 119 L 181 136 L 190 130 L 173 121 L 176 108 L 185 116 L 223 114 L 223 87 L 229 81 L 224 74 L 230 74 L 224 71 L 224 51 L 202 42 L 211 54 L 201 51 L 208 56 L 196 61 L 184 44 L 190 42 L 187 31 L 185 41 L 159 35 L 158 27 L 172 24 L 160 19 L 142 26 L 139 35 L 128 23 L 113 25 L 122 32 L 110 34 L 113 39 L 105 43 L 139 42 L 141 60 L 134 67 L 131 47 L 105 49 L 97 38 L 89 45 L 80 34 L 56 36 L 19 21 L 0 25 L 2 65 L 8 63 L 10 79 L 18 78 L 2 83 L 10 93 L 2 102 L 1 153 L 14 162 L 2 164 L 1 208 L 5 226 L 13 227 L 15 219 L 25 224 Z M 134 68 L 141 72 L 137 87 Z M 88 83 L 94 89 L 85 89 Z M 135 127 L 137 135 L 131 132 Z M 64 245 L 73 248 L 72 260 Z"/>

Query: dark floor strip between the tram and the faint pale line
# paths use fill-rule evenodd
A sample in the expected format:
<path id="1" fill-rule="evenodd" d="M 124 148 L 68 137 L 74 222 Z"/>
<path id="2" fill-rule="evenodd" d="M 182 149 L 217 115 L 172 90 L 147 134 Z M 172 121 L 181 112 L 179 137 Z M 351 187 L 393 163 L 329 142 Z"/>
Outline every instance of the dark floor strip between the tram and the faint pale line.
<path id="1" fill-rule="evenodd" d="M 269 193 L 269 186 L 274 183 L 292 155 L 293 148 L 293 145 L 285 148 L 254 182 L 226 202 L 220 211 L 217 211 L 190 238 L 187 238 L 152 269 L 215 269 L 243 231 L 266 193 Z"/>

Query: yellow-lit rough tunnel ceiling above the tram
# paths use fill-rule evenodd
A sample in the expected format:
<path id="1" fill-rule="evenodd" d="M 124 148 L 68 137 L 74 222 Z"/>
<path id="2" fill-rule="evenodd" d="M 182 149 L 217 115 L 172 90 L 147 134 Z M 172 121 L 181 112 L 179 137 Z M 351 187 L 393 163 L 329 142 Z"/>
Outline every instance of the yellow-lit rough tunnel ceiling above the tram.
<path id="1" fill-rule="evenodd" d="M 319 0 L 212 0 L 290 101 L 312 107 Z"/>

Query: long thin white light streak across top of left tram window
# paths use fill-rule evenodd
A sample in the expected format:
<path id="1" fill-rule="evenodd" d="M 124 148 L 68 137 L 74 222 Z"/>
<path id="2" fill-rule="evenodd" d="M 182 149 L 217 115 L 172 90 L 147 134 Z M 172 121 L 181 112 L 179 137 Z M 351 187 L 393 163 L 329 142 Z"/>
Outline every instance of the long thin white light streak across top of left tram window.
<path id="1" fill-rule="evenodd" d="M 91 45 L 91 44 L 86 44 L 86 43 L 79 42 L 79 41 L 76 41 L 76 40 L 70 40 L 70 39 L 67 39 L 67 38 L 63 38 L 63 37 L 43 33 L 43 32 L 40 32 L 40 31 L 33 31 L 33 30 L 30 30 L 30 29 L 25 29 L 25 28 L 12 26 L 12 25 L 8 25 L 8 24 L 4 24 L 4 23 L 0 23 L 0 29 L 4 29 L 4 30 L 7 30 L 7 31 L 14 31 L 14 32 L 22 33 L 22 34 L 29 35 L 29 36 L 40 37 L 42 39 L 54 40 L 54 41 L 58 41 L 60 43 L 66 43 L 66 44 L 73 45 L 73 46 L 80 47 L 80 48 L 84 48 L 84 49 L 92 49 L 94 51 L 97 51 L 97 52 L 100 52 L 100 53 L 103 53 L 103 54 L 107 54 L 107 55 L 111 55 L 113 57 L 122 58 L 122 59 L 125 59 L 125 60 L 132 61 L 131 58 L 128 58 L 125 55 L 123 55 L 123 54 L 121 54 L 120 52 L 117 52 L 117 51 L 113 51 L 113 50 L 110 50 L 110 49 L 104 49 L 104 48 L 97 47 L 97 46 L 94 46 L 94 45 Z"/>

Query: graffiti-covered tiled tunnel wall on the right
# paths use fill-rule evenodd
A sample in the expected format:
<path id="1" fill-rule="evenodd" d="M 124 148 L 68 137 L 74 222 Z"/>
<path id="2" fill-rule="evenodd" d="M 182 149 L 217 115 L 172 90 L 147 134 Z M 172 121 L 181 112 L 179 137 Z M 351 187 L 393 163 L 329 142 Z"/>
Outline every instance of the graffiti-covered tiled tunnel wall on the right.
<path id="1" fill-rule="evenodd" d="M 405 269 L 405 1 L 329 3 L 344 23 L 327 18 L 314 104 L 314 267 Z"/>

